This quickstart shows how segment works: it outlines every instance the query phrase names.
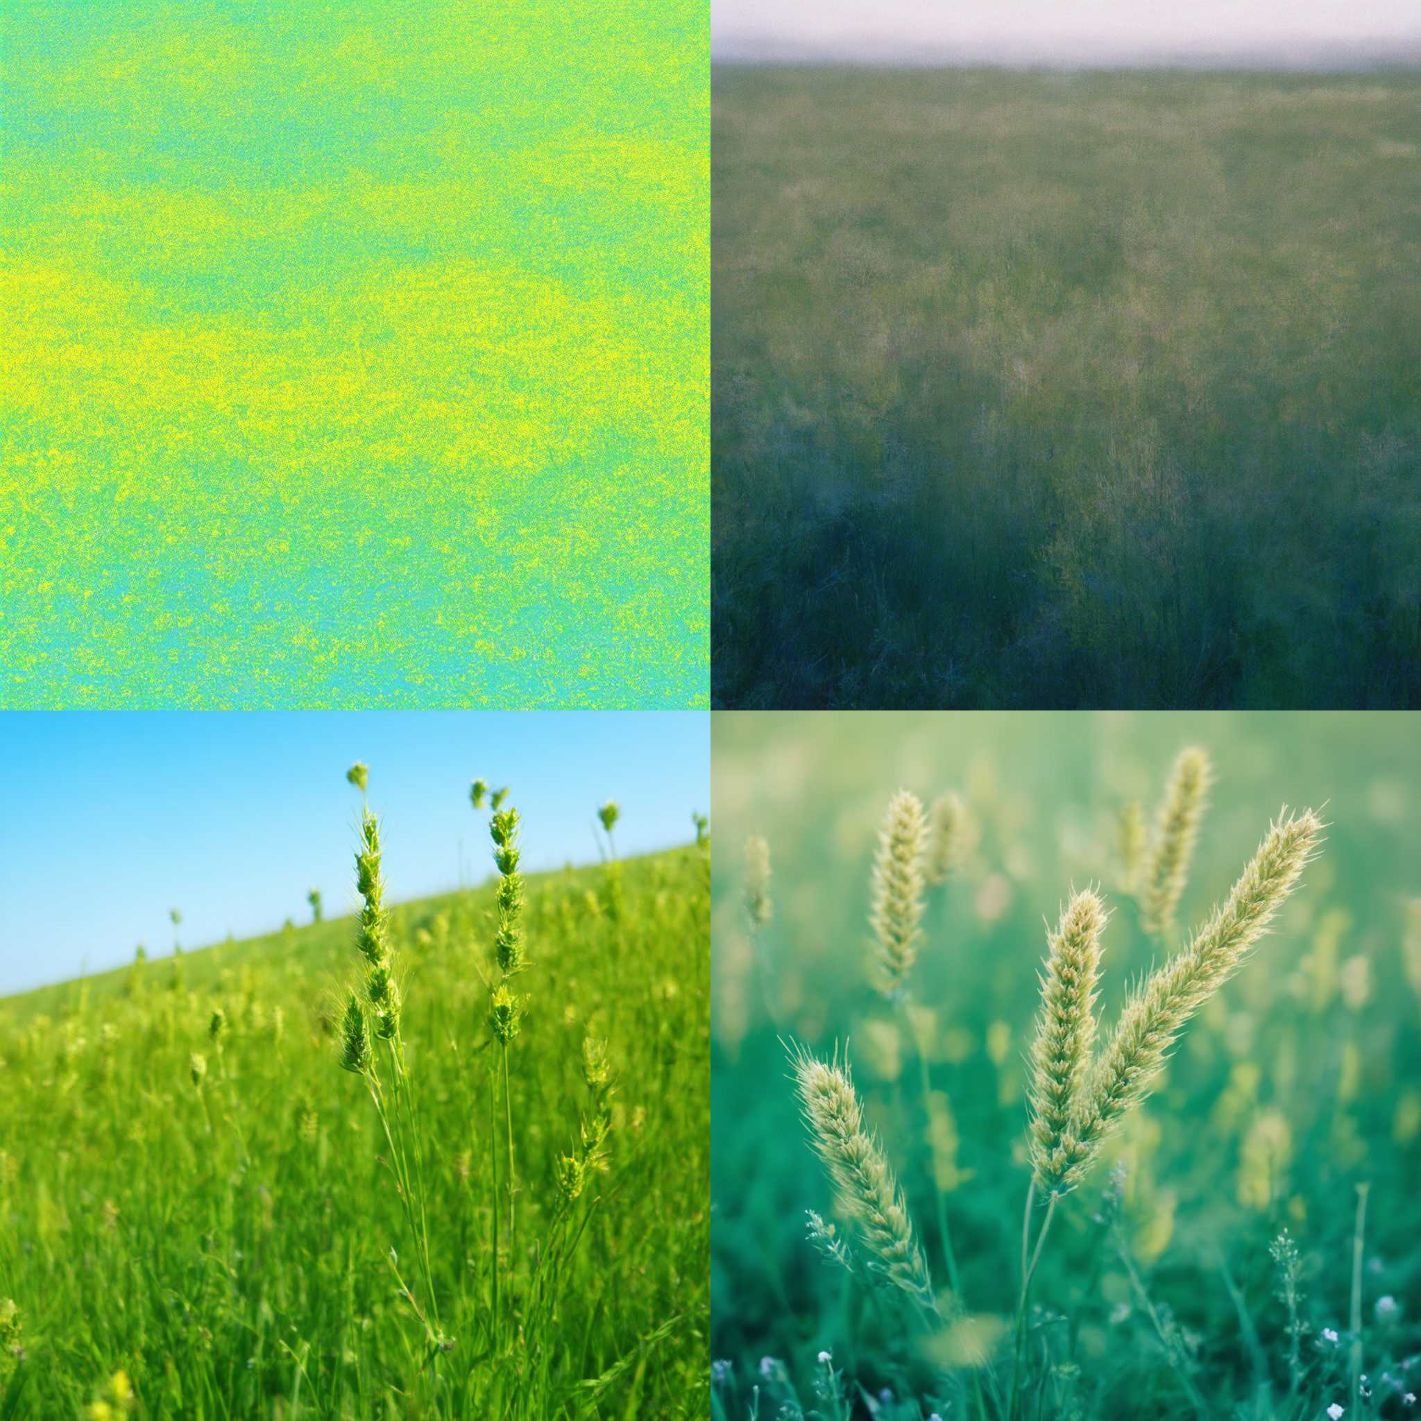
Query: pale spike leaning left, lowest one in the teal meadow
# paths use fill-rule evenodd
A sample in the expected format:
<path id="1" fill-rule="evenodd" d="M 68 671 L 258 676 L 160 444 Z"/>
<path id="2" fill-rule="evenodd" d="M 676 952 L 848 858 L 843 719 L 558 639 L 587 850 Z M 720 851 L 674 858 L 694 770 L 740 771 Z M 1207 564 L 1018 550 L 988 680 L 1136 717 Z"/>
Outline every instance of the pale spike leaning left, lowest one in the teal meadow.
<path id="1" fill-rule="evenodd" d="M 931 1306 L 928 1266 L 892 1168 L 864 1128 L 847 1059 L 840 1066 L 837 1050 L 831 1060 L 821 1061 L 803 1046 L 787 1049 L 814 1152 L 828 1171 L 840 1208 L 854 1221 L 871 1255 L 870 1268 Z"/>

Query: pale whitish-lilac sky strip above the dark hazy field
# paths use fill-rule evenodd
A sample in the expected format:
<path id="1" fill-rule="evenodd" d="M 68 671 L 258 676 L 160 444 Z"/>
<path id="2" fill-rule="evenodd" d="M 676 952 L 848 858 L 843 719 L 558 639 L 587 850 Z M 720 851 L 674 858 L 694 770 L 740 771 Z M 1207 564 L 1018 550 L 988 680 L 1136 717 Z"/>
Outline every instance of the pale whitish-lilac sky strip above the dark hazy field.
<path id="1" fill-rule="evenodd" d="M 1421 0 L 712 0 L 720 57 L 1417 58 Z"/>

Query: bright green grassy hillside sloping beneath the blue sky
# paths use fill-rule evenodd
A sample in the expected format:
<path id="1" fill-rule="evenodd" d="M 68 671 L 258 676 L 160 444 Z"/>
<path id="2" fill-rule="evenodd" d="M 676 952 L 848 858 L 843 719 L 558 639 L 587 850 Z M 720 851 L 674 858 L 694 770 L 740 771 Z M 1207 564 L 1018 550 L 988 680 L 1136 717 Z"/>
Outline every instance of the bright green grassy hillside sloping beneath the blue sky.
<path id="1" fill-rule="evenodd" d="M 706 1414 L 709 850 L 507 885 L 0 1002 L 0 1417 Z"/>

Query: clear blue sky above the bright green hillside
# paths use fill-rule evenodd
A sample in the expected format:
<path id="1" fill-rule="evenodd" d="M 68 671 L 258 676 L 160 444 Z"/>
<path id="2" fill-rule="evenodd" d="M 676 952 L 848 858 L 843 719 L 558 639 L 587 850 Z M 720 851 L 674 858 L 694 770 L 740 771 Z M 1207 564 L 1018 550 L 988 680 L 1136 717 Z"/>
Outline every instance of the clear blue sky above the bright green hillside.
<path id="1" fill-rule="evenodd" d="M 10 712 L 0 715 L 0 995 L 327 917 L 355 902 L 369 764 L 395 899 L 480 882 L 487 814 L 469 783 L 510 784 L 524 867 L 597 861 L 595 809 L 621 806 L 617 851 L 686 843 L 710 807 L 703 712 Z"/>

